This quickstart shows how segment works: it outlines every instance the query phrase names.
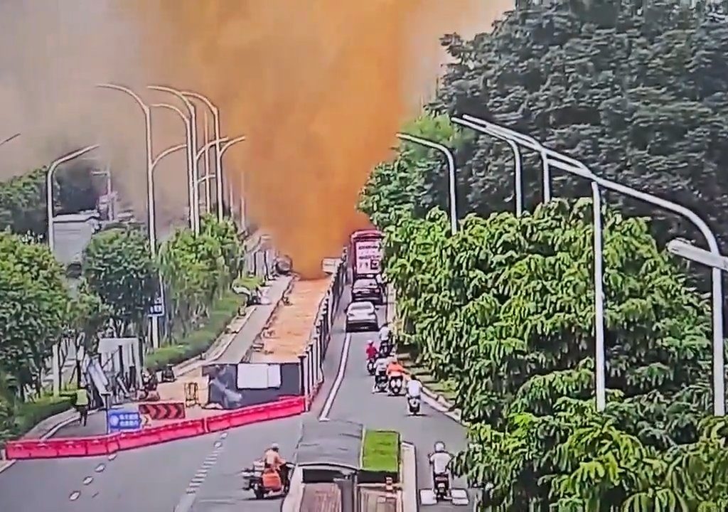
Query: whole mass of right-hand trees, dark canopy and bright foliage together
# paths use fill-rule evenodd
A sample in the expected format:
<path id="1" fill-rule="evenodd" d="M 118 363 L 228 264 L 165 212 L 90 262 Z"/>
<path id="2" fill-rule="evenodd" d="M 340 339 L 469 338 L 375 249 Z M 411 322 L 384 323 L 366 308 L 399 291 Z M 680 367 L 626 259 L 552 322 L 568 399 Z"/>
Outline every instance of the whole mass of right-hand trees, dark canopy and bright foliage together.
<path id="1" fill-rule="evenodd" d="M 555 172 L 554 196 L 572 201 L 536 208 L 530 155 L 531 213 L 515 218 L 509 146 L 443 115 L 515 127 L 687 205 L 726 248 L 726 18 L 664 0 L 520 4 L 494 34 L 443 39 L 455 62 L 435 114 L 405 128 L 454 148 L 459 216 L 477 216 L 451 235 L 443 157 L 412 144 L 365 186 L 360 209 L 387 232 L 403 339 L 456 389 L 470 438 L 458 470 L 495 484 L 496 510 L 727 510 L 708 304 L 661 251 L 692 227 L 606 196 L 622 214 L 604 213 L 608 403 L 598 413 L 591 211 L 578 199 L 588 184 Z"/>

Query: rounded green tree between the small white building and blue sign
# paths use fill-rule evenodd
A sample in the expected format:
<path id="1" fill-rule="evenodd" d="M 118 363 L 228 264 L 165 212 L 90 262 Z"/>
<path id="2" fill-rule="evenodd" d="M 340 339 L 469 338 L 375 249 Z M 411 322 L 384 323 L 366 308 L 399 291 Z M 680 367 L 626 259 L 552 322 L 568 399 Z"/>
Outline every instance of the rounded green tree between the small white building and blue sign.
<path id="1" fill-rule="evenodd" d="M 111 308 L 116 336 L 144 338 L 157 291 L 157 265 L 141 229 L 114 228 L 94 235 L 84 251 L 82 275 L 88 290 Z"/>

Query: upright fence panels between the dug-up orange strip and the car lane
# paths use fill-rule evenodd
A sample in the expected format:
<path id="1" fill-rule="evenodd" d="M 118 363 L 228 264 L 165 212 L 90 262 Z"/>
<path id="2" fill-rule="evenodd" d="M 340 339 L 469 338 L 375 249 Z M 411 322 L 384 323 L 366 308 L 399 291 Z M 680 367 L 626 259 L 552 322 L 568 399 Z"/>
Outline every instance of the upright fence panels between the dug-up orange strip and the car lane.
<path id="1" fill-rule="evenodd" d="M 298 356 L 301 364 L 301 395 L 306 397 L 306 410 L 309 409 L 311 402 L 316 398 L 323 385 L 323 360 L 331 341 L 331 327 L 336 313 L 339 312 L 341 296 L 344 294 L 346 284 L 347 265 L 344 259 L 340 259 L 333 272 L 331 286 L 319 303 L 306 352 L 304 355 Z"/>

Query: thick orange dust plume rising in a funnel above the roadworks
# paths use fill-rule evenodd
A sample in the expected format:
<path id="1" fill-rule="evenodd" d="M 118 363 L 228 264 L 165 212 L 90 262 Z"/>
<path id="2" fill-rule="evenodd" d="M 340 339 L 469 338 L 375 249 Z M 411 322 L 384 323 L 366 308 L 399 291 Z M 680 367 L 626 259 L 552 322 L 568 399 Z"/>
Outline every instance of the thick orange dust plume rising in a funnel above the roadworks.
<path id="1" fill-rule="evenodd" d="M 210 96 L 248 211 L 318 277 L 353 229 L 368 173 L 432 92 L 448 32 L 488 31 L 513 0 L 137 0 L 164 76 Z"/>

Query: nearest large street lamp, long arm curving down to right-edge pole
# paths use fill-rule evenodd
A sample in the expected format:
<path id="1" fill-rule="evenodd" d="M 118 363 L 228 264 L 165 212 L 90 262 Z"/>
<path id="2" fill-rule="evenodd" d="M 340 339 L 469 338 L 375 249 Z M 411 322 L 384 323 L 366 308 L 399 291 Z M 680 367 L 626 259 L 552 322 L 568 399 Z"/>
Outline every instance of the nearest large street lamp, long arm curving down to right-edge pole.
<path id="1" fill-rule="evenodd" d="M 719 258 L 722 256 L 718 246 L 718 240 L 716 239 L 716 235 L 711 231 L 711 228 L 708 227 L 708 224 L 706 224 L 705 221 L 703 221 L 703 219 L 697 215 L 697 213 L 689 210 L 689 208 L 685 208 L 684 206 L 678 205 L 675 202 L 662 199 L 661 197 L 647 194 L 646 192 L 640 192 L 636 189 L 632 189 L 629 186 L 619 184 L 615 181 L 609 181 L 604 178 L 600 178 L 599 176 L 591 173 L 581 162 L 578 162 L 573 158 L 566 157 L 566 155 L 558 153 L 557 151 L 553 151 L 552 149 L 548 149 L 545 146 L 542 146 L 541 143 L 534 141 L 533 138 L 516 132 L 515 130 L 510 130 L 509 128 L 495 125 L 494 123 L 487 122 L 484 119 L 478 119 L 477 117 L 472 117 L 467 114 L 463 117 L 469 121 L 478 123 L 478 125 L 488 127 L 491 130 L 496 131 L 497 133 L 501 133 L 504 136 L 512 138 L 515 141 L 518 141 L 521 146 L 525 146 L 530 149 L 534 149 L 535 151 L 539 151 L 542 159 L 546 160 L 547 165 L 559 168 L 561 170 L 565 170 L 567 173 L 582 176 L 582 178 L 587 178 L 602 189 L 618 192 L 628 197 L 632 197 L 633 199 L 649 203 L 659 208 L 664 208 L 665 210 L 669 210 L 673 213 L 677 213 L 679 216 L 687 218 L 689 221 L 692 222 L 692 224 L 695 224 L 695 227 L 697 227 L 697 229 L 700 229 L 700 232 L 705 237 L 709 248 L 709 251 L 707 252 L 713 255 L 711 257 Z M 673 249 L 675 247 L 676 246 L 673 244 Z M 680 248 L 680 245 L 678 244 L 678 251 L 681 250 L 684 251 L 685 248 L 684 246 Z M 599 251 L 599 253 L 595 252 L 594 259 L 595 261 L 596 259 L 602 259 L 601 251 Z M 713 288 L 713 414 L 715 416 L 725 416 L 723 283 L 721 280 L 720 268 L 713 267 L 711 269 L 711 280 Z"/>

